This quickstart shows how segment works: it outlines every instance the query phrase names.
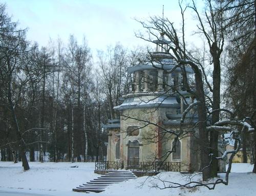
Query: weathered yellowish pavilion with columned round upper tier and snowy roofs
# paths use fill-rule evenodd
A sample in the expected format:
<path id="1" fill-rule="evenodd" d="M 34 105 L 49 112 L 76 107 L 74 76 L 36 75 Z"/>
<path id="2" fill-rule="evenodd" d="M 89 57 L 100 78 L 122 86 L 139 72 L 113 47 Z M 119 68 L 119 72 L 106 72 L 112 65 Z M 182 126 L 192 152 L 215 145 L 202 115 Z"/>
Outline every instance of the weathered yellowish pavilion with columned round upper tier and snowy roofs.
<path id="1" fill-rule="evenodd" d="M 129 169 L 148 169 L 159 166 L 165 170 L 193 172 L 200 169 L 198 130 L 193 128 L 198 121 L 195 111 L 190 111 L 184 122 L 183 134 L 180 119 L 188 104 L 194 100 L 182 90 L 181 69 L 173 69 L 175 63 L 165 52 L 169 41 L 161 34 L 154 41 L 156 52 L 152 59 L 128 72 L 134 76 L 135 91 L 123 96 L 123 103 L 114 107 L 120 112 L 118 121 L 104 125 L 108 129 L 109 164 L 120 163 Z M 193 70 L 186 67 L 189 78 Z M 172 88 L 174 87 L 175 88 Z M 175 152 L 170 153 L 175 148 Z"/>

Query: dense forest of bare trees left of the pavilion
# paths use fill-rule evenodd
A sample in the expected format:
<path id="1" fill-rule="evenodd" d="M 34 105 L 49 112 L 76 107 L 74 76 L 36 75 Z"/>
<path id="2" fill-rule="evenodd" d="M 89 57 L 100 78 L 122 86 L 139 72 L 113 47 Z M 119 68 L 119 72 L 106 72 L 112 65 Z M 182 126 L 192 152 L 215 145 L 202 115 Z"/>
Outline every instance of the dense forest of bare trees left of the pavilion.
<path id="1" fill-rule="evenodd" d="M 141 51 L 117 44 L 98 52 L 74 35 L 67 45 L 40 47 L 0 9 L 0 148 L 2 161 L 95 161 L 106 154 L 101 124 L 118 118 L 113 107 L 131 91 L 126 67 Z M 138 52 L 139 51 L 139 52 Z M 26 157 L 27 154 L 27 157 Z"/>

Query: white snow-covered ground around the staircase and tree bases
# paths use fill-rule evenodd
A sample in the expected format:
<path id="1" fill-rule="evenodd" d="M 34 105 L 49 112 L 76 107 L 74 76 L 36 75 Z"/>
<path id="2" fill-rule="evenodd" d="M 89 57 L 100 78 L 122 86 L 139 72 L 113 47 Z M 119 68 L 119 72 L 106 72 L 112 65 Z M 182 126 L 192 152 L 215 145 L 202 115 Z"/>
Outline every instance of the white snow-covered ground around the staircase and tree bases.
<path id="1" fill-rule="evenodd" d="M 16 164 L 0 162 L 0 195 L 85 195 L 86 193 L 73 192 L 72 188 L 99 176 L 94 174 L 94 163 L 30 162 L 30 167 L 30 170 L 24 171 L 20 162 Z M 166 172 L 160 173 L 157 177 L 141 177 L 111 185 L 104 192 L 90 193 L 90 195 L 255 195 L 256 174 L 251 173 L 252 167 L 253 165 L 246 163 L 233 163 L 229 185 L 217 185 L 215 190 L 208 190 L 205 187 L 163 190 L 154 188 L 156 185 L 163 187 L 163 183 L 157 178 L 185 183 L 192 177 L 187 174 Z M 220 174 L 223 178 L 224 175 Z M 193 176 L 193 180 L 201 180 L 200 175 Z"/>

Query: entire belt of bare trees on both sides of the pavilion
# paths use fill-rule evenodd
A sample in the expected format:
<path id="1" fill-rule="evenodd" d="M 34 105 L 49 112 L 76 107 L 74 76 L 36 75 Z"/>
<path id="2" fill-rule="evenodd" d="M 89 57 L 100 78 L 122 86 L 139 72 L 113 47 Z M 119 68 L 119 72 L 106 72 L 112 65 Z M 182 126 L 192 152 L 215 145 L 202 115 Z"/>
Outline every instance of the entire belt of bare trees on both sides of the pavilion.
<path id="1" fill-rule="evenodd" d="M 152 42 L 162 32 L 171 41 L 168 52 L 183 70 L 183 86 L 198 101 L 201 162 L 203 167 L 211 163 L 203 170 L 206 180 L 217 176 L 218 139 L 228 130 L 223 126 L 240 126 L 244 162 L 249 149 L 254 149 L 255 162 L 256 134 L 244 131 L 242 122 L 255 128 L 256 25 L 255 1 L 204 2 L 201 12 L 194 1 L 179 1 L 179 28 L 168 18 L 138 20 L 146 34 L 137 37 Z M 75 35 L 66 45 L 58 39 L 40 47 L 26 40 L 27 30 L 19 29 L 5 5 L 0 6 L 1 160 L 22 160 L 25 170 L 28 155 L 30 161 L 41 162 L 46 157 L 55 162 L 103 160 L 107 135 L 101 125 L 120 118 L 114 106 L 135 89 L 126 69 L 141 62 L 147 50 L 116 44 L 92 59 L 86 39 L 80 43 Z M 204 51 L 191 50 L 187 44 L 186 10 L 197 19 L 195 34 L 205 41 Z M 186 80 L 185 66 L 195 72 L 193 87 Z M 221 121 L 224 117 L 229 121 Z"/>

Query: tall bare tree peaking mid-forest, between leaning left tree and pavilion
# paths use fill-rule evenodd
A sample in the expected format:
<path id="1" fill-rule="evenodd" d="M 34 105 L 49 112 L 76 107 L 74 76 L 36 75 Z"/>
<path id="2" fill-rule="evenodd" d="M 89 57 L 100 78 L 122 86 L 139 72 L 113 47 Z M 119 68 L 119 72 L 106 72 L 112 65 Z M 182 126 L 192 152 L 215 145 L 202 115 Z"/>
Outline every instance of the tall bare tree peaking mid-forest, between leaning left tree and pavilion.
<path id="1" fill-rule="evenodd" d="M 74 150 L 75 156 L 81 161 L 80 155 L 82 155 L 82 136 L 83 131 L 83 112 L 82 112 L 82 96 L 83 85 L 89 86 L 89 78 L 91 71 L 91 53 L 85 38 L 83 39 L 82 45 L 78 45 L 73 35 L 70 36 L 70 43 L 68 45 L 67 55 L 65 57 L 64 65 L 66 68 L 65 77 L 69 82 L 70 88 L 72 89 L 72 116 L 74 117 Z M 75 110 L 74 110 L 75 109 Z"/>

